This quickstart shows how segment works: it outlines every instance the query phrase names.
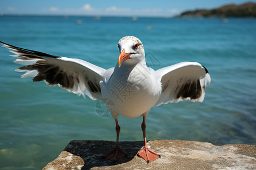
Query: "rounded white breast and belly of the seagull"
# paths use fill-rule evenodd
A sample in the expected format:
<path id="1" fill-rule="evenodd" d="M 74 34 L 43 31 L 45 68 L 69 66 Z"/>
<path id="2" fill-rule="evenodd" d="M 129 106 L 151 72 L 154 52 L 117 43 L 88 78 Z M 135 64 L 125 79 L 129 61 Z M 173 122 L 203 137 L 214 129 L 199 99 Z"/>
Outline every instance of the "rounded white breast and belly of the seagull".
<path id="1" fill-rule="evenodd" d="M 154 72 L 147 67 L 126 73 L 113 74 L 109 79 L 108 98 L 113 101 L 112 109 L 116 113 L 133 118 L 149 111 L 158 101 L 162 89 L 160 78 L 153 78 Z"/>

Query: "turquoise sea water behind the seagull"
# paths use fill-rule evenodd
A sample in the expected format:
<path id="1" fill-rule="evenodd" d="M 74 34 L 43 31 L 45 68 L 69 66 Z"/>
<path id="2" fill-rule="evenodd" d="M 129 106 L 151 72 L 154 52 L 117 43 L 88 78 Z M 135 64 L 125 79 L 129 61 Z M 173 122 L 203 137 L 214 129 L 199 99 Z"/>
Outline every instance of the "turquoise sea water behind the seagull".
<path id="1" fill-rule="evenodd" d="M 137 36 L 153 69 L 196 61 L 212 78 L 203 103 L 153 107 L 148 140 L 256 145 L 256 19 L 228 21 L 1 16 L 0 40 L 108 69 L 117 63 L 118 40 Z M 98 101 L 21 79 L 10 54 L 0 48 L 0 169 L 42 169 L 72 140 L 115 140 L 114 120 L 99 116 Z M 119 116 L 120 140 L 142 141 L 141 123 Z"/>

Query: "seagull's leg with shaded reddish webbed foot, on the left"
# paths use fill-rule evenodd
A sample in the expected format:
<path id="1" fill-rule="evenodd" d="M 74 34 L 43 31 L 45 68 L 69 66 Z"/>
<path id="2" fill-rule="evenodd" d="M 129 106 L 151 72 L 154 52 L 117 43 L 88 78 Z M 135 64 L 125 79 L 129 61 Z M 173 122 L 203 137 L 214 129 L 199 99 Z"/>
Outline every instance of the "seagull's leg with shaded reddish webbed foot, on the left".
<path id="1" fill-rule="evenodd" d="M 117 145 L 115 146 L 114 150 L 110 151 L 108 154 L 105 155 L 106 159 L 113 160 L 114 162 L 122 158 L 123 156 L 126 156 L 125 152 L 121 150 L 119 147 L 119 132 L 120 132 L 120 126 L 118 125 L 117 119 L 115 119 L 115 130 L 117 131 Z"/>

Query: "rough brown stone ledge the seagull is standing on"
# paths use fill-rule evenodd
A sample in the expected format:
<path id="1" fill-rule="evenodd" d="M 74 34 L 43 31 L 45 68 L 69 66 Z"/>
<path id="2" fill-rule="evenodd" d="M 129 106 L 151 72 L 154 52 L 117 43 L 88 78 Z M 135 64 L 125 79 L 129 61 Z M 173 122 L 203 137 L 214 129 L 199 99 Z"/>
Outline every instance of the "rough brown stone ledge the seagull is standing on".
<path id="1" fill-rule="evenodd" d="M 143 142 L 120 142 L 127 156 L 112 162 L 104 158 L 115 142 L 71 141 L 58 158 L 43 169 L 256 169 L 255 145 L 160 140 L 149 141 L 161 158 L 147 164 L 137 156 Z"/>

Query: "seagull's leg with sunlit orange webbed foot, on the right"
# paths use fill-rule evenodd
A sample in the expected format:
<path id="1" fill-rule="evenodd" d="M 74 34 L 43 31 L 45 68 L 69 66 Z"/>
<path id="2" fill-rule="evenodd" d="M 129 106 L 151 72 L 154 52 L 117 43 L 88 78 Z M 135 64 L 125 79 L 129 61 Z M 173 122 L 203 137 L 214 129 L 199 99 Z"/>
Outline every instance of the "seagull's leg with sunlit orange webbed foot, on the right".
<path id="1" fill-rule="evenodd" d="M 141 124 L 141 129 L 143 132 L 144 137 L 144 146 L 141 150 L 138 151 L 138 156 L 146 160 L 147 163 L 152 162 L 153 160 L 156 160 L 160 158 L 160 155 L 156 154 L 155 152 L 152 152 L 147 147 L 147 139 L 146 139 L 146 124 L 145 124 L 146 117 L 143 116 L 143 122 Z"/>

